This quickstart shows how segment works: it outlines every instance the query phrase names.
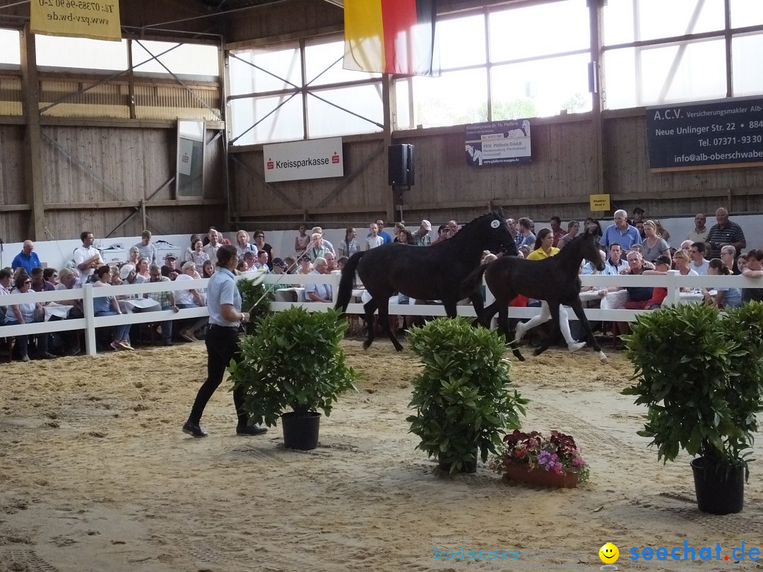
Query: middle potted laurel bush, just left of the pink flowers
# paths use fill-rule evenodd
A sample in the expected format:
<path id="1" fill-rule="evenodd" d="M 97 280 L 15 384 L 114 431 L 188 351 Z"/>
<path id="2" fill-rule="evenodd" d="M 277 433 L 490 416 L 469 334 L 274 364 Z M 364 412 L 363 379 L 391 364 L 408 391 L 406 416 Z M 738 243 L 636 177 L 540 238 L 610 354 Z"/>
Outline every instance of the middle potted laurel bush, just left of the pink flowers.
<path id="1" fill-rule="evenodd" d="M 478 451 L 487 461 L 525 414 L 527 400 L 510 390 L 503 338 L 464 318 L 439 318 L 410 329 L 410 347 L 423 365 L 408 406 L 416 414 L 407 418 L 417 448 L 443 471 L 475 472 Z"/>

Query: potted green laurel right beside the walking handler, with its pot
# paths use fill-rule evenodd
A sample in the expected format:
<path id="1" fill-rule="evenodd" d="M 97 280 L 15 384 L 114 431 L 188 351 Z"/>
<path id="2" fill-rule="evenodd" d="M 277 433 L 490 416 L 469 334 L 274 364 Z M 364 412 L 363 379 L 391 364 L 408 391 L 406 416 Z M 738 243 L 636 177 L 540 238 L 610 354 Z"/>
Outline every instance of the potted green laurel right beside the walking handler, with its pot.
<path id="1" fill-rule="evenodd" d="M 314 449 L 319 412 L 329 416 L 340 394 L 355 389 L 358 376 L 340 347 L 346 321 L 335 310 L 291 307 L 258 322 L 230 368 L 234 387 L 243 389 L 244 410 L 253 423 L 269 427 L 281 419 L 286 447 Z"/>

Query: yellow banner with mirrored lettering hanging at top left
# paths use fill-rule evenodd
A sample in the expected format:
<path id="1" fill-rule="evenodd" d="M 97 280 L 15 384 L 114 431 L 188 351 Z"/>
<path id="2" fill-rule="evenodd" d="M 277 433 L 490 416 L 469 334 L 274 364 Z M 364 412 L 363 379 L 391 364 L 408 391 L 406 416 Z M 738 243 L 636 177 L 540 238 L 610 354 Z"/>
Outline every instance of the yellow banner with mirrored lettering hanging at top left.
<path id="1" fill-rule="evenodd" d="M 30 0 L 29 6 L 34 34 L 122 39 L 119 0 Z"/>

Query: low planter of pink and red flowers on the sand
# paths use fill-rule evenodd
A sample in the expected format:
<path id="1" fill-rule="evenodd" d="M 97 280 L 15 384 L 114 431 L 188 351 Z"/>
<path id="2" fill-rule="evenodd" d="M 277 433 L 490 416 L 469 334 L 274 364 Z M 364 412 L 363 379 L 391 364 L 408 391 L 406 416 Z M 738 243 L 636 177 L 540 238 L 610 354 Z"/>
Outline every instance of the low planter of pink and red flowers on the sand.
<path id="1" fill-rule="evenodd" d="M 493 459 L 491 468 L 501 474 L 506 464 L 526 464 L 527 470 L 549 471 L 556 474 L 577 473 L 578 481 L 588 480 L 588 464 L 571 435 L 552 431 L 546 439 L 537 431 L 515 429 L 504 437 L 504 444 Z"/>

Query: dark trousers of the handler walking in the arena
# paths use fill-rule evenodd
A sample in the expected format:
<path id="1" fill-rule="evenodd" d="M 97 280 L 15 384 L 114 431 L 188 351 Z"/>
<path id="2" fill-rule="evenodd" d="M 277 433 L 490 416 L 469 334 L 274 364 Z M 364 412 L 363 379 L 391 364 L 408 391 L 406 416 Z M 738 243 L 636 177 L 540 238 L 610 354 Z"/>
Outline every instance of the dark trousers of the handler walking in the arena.
<path id="1" fill-rule="evenodd" d="M 207 381 L 198 390 L 188 421 L 197 424 L 201 421 L 204 407 L 207 407 L 214 390 L 220 387 L 230 359 L 238 357 L 238 341 L 238 328 L 209 325 L 209 334 L 204 339 L 204 344 L 207 345 Z M 246 427 L 249 415 L 243 413 L 243 390 L 233 391 L 233 403 L 238 415 L 238 426 Z"/>

